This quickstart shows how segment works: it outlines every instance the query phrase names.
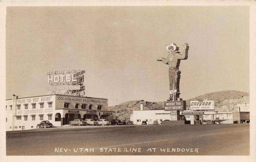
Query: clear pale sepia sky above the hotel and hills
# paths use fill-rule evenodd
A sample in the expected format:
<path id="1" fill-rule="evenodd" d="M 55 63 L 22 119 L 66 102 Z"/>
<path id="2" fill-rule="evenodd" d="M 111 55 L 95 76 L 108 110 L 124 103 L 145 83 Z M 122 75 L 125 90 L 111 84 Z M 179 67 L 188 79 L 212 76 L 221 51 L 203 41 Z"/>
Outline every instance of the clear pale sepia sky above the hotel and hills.
<path id="1" fill-rule="evenodd" d="M 7 7 L 6 99 L 51 94 L 46 71 L 85 70 L 85 96 L 169 98 L 166 45 L 188 43 L 180 61 L 183 100 L 249 92 L 247 6 Z"/>

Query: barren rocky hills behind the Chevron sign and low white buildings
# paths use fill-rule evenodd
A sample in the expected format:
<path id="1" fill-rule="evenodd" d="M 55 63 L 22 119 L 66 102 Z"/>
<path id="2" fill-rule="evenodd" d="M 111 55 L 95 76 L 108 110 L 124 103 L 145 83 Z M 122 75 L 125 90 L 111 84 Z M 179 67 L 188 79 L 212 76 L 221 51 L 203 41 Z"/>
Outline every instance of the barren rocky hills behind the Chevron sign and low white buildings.
<path id="1" fill-rule="evenodd" d="M 201 96 L 196 96 L 195 98 L 187 99 L 186 106 L 190 105 L 191 100 L 205 99 L 215 100 L 215 110 L 219 112 L 236 112 L 237 104 L 250 103 L 249 94 L 246 92 L 226 90 L 219 92 L 207 93 Z M 140 110 L 140 104 L 143 104 L 144 110 L 153 109 L 164 109 L 163 102 L 149 102 L 144 100 L 127 101 L 116 106 L 109 107 L 110 111 L 115 111 L 118 119 L 130 119 L 131 110 Z"/>

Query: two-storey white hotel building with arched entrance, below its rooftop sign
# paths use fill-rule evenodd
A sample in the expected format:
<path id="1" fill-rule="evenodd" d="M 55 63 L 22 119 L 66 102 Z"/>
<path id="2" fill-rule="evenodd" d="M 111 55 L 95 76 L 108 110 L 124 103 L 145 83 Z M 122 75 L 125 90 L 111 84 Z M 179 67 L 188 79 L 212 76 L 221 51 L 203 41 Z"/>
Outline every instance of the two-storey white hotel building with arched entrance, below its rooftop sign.
<path id="1" fill-rule="evenodd" d="M 6 131 L 36 128 L 43 120 L 53 126 L 69 124 L 74 119 L 116 119 L 116 112 L 108 111 L 108 99 L 45 95 L 6 100 Z"/>

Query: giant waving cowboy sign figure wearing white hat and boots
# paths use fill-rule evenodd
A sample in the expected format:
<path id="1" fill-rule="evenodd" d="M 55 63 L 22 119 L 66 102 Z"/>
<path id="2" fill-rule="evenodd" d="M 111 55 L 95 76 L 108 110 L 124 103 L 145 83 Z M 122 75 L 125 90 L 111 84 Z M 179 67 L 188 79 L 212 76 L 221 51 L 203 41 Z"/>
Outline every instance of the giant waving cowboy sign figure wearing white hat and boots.
<path id="1" fill-rule="evenodd" d="M 170 98 L 167 101 L 177 101 L 177 94 L 179 94 L 179 90 L 177 90 L 177 76 L 179 70 L 177 68 L 178 59 L 184 59 L 186 56 L 186 50 L 188 46 L 187 43 L 183 44 L 183 52 L 180 54 L 178 52 L 179 48 L 175 43 L 170 43 L 170 45 L 166 45 L 166 50 L 168 50 L 167 58 L 158 58 L 157 61 L 163 61 L 164 64 L 169 65 L 169 81 L 170 81 Z"/>

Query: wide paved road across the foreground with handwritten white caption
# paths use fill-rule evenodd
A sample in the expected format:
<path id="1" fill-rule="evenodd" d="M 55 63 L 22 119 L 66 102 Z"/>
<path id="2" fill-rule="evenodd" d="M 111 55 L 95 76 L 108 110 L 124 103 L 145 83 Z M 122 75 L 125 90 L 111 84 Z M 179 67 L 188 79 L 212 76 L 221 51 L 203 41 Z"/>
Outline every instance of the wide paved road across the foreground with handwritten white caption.
<path id="1" fill-rule="evenodd" d="M 249 124 L 39 128 L 6 132 L 6 155 L 249 155 L 249 136 Z"/>

